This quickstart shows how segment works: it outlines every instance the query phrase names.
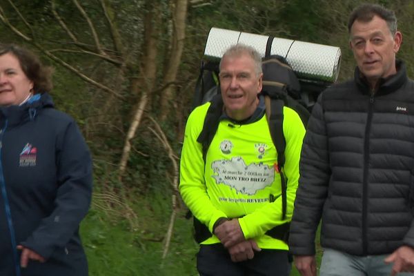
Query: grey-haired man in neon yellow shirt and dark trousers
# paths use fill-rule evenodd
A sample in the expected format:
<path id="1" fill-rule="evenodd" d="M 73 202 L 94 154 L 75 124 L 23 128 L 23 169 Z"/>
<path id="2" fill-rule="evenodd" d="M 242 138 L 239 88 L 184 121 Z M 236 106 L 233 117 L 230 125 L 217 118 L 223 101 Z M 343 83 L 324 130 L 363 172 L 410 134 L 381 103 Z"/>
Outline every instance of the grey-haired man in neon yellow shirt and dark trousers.
<path id="1" fill-rule="evenodd" d="M 219 72 L 224 110 L 205 157 L 197 137 L 210 103 L 195 108 L 186 124 L 179 190 L 207 233 L 199 239 L 200 275 L 290 273 L 286 235 L 273 233 L 287 229 L 293 213 L 305 128 L 297 112 L 285 106 L 287 203 L 282 216 L 277 151 L 259 94 L 262 76 L 256 50 L 242 44 L 230 47 Z"/>

